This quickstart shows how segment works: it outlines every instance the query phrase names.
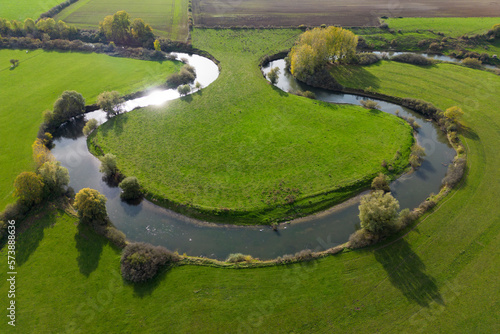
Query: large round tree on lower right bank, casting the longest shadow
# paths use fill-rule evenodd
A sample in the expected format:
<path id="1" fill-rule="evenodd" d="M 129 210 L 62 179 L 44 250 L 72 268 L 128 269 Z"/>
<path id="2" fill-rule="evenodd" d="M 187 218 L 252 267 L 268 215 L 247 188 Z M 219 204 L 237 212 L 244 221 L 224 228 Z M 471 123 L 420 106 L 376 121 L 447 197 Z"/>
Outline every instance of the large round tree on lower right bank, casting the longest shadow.
<path id="1" fill-rule="evenodd" d="M 390 193 L 377 190 L 361 198 L 359 219 L 361 227 L 382 234 L 394 227 L 398 218 L 399 202 Z"/>

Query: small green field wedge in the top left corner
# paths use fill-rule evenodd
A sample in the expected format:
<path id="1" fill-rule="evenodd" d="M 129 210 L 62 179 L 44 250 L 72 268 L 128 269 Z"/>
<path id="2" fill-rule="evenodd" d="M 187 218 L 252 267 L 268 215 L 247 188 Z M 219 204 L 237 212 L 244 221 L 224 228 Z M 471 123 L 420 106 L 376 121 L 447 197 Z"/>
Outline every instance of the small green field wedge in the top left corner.
<path id="1" fill-rule="evenodd" d="M 63 2 L 62 0 L 2 0 L 0 17 L 24 21 L 28 17 L 36 20 L 40 14 Z"/>

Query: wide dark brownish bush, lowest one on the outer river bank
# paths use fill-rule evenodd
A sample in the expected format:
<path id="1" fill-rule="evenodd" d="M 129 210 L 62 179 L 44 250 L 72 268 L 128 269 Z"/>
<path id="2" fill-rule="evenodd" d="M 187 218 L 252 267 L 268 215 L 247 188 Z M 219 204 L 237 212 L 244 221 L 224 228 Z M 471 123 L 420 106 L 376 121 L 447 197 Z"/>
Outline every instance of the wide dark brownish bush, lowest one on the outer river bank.
<path id="1" fill-rule="evenodd" d="M 177 261 L 179 257 L 164 247 L 143 242 L 130 243 L 122 252 L 121 273 L 127 281 L 145 282 L 153 278 L 161 267 Z"/>

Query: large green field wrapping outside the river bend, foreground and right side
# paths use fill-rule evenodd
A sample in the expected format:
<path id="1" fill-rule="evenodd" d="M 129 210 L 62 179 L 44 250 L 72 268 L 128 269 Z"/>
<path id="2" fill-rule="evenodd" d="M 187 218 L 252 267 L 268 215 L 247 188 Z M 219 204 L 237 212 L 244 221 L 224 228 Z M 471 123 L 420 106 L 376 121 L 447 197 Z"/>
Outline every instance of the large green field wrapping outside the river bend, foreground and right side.
<path id="1" fill-rule="evenodd" d="M 196 34 L 195 43 L 203 45 L 206 38 Z M 46 210 L 18 239 L 23 307 L 16 331 L 2 323 L 2 333 L 498 332 L 500 77 L 456 65 L 382 62 L 363 70 L 378 92 L 466 111 L 467 177 L 415 231 L 311 263 L 252 270 L 183 266 L 132 286 L 119 277 L 116 249 L 78 230 L 76 218 Z M 7 289 L 0 282 L 0 294 Z"/>

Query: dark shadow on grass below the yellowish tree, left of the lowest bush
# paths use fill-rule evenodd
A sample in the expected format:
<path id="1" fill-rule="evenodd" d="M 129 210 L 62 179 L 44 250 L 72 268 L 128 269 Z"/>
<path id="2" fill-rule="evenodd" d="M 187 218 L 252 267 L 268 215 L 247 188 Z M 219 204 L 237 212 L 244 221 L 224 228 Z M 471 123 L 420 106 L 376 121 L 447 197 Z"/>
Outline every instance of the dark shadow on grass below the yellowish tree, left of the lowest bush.
<path id="1" fill-rule="evenodd" d="M 107 241 L 84 224 L 78 224 L 75 241 L 78 250 L 78 267 L 80 272 L 88 277 L 97 269 L 104 244 Z"/>

